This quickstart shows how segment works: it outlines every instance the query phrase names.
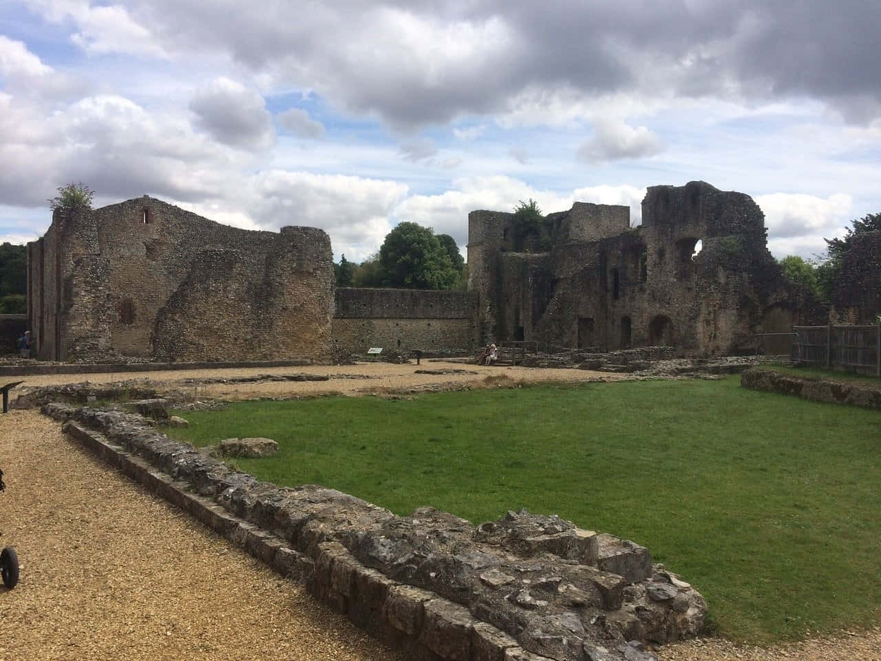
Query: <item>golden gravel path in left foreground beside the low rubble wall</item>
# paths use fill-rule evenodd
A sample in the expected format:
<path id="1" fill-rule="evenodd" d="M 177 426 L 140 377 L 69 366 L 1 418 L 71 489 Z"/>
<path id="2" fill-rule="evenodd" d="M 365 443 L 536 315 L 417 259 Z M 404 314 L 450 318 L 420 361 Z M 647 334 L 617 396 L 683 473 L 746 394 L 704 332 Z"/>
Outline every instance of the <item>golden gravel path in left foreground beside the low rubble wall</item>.
<path id="1" fill-rule="evenodd" d="M 0 660 L 403 661 L 38 412 L 0 414 L 0 468 Z"/>

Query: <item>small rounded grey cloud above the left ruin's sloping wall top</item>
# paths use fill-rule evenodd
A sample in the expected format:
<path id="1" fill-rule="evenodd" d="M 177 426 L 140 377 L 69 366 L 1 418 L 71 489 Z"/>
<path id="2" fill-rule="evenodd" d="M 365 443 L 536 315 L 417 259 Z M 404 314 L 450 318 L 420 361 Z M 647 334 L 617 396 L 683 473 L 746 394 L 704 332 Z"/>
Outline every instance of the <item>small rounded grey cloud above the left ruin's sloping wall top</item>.
<path id="1" fill-rule="evenodd" d="M 196 124 L 224 145 L 256 150 L 275 142 L 263 97 L 229 78 L 215 78 L 196 91 L 189 108 Z"/>

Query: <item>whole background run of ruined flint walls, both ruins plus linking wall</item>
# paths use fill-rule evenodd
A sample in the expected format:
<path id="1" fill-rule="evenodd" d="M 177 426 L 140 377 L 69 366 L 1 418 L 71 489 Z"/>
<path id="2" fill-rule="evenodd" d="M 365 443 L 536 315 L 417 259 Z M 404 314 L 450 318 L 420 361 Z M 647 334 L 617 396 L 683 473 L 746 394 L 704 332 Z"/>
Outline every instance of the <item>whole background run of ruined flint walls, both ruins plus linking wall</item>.
<path id="1" fill-rule="evenodd" d="M 756 332 L 823 316 L 768 252 L 749 196 L 654 186 L 642 225 L 629 223 L 626 206 L 581 202 L 537 226 L 471 212 L 469 291 L 335 291 L 320 229 L 226 227 L 144 196 L 54 213 L 28 244 L 28 325 L 44 360 L 323 362 L 334 344 L 470 352 L 516 340 L 751 353 Z"/>

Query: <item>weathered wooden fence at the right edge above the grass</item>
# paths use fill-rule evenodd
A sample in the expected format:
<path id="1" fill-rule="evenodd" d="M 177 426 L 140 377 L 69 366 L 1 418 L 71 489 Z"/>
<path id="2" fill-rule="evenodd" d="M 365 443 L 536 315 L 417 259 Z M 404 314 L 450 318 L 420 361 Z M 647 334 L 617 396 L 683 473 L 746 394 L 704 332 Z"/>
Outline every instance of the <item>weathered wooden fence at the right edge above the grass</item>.
<path id="1" fill-rule="evenodd" d="M 881 376 L 881 324 L 874 326 L 794 326 L 792 359 L 825 369 Z"/>

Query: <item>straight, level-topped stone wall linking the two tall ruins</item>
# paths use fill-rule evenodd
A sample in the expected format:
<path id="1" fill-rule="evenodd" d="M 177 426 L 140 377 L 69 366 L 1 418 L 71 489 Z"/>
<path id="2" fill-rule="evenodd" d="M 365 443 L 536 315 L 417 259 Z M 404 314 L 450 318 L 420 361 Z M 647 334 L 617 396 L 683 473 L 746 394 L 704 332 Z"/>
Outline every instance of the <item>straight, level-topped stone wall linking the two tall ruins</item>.
<path id="1" fill-rule="evenodd" d="M 470 292 L 340 288 L 331 335 L 351 353 L 471 351 L 477 296 Z"/>

